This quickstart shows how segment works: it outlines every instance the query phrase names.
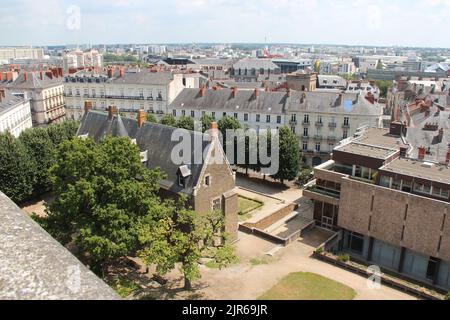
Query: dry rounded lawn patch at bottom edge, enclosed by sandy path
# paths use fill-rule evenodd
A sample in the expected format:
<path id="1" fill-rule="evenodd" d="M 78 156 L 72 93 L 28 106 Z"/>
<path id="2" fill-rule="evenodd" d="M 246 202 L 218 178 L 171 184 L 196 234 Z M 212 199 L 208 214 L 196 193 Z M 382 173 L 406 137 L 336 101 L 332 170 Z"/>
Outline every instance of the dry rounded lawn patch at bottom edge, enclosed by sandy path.
<path id="1" fill-rule="evenodd" d="M 355 290 L 309 272 L 291 273 L 258 300 L 353 300 Z"/>

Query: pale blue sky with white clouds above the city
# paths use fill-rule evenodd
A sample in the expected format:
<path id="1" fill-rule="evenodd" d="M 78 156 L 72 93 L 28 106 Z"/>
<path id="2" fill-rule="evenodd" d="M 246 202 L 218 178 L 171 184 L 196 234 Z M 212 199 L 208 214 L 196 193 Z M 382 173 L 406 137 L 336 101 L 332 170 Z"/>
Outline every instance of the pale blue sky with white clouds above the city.
<path id="1" fill-rule="evenodd" d="M 0 46 L 298 43 L 450 48 L 450 0 L 0 0 Z"/>

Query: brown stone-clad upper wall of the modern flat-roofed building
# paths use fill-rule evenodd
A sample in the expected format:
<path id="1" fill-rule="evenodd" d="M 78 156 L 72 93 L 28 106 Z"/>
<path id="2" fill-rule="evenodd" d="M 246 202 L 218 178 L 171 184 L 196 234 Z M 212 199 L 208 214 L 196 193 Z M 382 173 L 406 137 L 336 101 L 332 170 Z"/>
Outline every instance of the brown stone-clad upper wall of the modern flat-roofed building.
<path id="1" fill-rule="evenodd" d="M 447 202 L 342 179 L 339 227 L 446 261 L 450 261 L 449 213 Z"/>

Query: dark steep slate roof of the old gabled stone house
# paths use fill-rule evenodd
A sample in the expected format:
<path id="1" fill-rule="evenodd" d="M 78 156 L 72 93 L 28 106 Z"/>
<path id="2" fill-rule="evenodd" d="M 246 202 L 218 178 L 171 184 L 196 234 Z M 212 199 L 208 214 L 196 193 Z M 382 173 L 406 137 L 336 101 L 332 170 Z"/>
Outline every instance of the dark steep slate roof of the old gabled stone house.
<path id="1" fill-rule="evenodd" d="M 179 140 L 172 141 L 172 135 L 175 131 L 183 132 L 185 137 L 189 137 L 192 141 L 191 160 L 187 163 L 178 164 L 172 161 L 172 150 L 179 144 Z M 127 136 L 130 139 L 135 139 L 142 152 L 148 151 L 146 166 L 149 169 L 160 168 L 166 173 L 167 178 L 161 182 L 161 186 L 174 193 L 187 195 L 192 195 L 194 192 L 204 166 L 204 164 L 196 164 L 194 153 L 206 154 L 211 146 L 210 141 L 203 141 L 201 133 L 148 122 L 138 128 L 138 123 L 134 119 L 114 116 L 112 120 L 108 120 L 106 113 L 98 111 L 90 111 L 83 117 L 78 135 L 88 135 L 97 142 L 106 136 Z M 193 142 L 194 137 L 199 139 L 198 141 L 202 141 L 200 143 L 201 150 Z M 178 172 L 183 165 L 187 165 L 187 168 L 191 171 L 191 176 L 186 179 L 185 187 L 178 184 Z M 185 172 L 184 168 L 182 170 Z"/>

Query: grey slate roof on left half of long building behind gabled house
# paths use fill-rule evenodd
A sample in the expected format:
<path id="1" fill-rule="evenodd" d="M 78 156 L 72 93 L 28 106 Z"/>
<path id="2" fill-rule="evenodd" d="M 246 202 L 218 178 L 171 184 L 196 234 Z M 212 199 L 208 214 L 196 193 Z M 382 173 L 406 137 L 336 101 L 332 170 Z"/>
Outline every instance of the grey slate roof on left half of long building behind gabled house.
<path id="1" fill-rule="evenodd" d="M 285 92 L 260 91 L 255 98 L 254 90 L 238 90 L 234 98 L 232 89 L 206 90 L 203 97 L 199 89 L 184 89 L 171 103 L 170 108 L 281 114 L 287 103 L 288 96 Z"/>

